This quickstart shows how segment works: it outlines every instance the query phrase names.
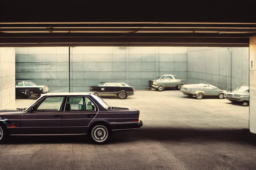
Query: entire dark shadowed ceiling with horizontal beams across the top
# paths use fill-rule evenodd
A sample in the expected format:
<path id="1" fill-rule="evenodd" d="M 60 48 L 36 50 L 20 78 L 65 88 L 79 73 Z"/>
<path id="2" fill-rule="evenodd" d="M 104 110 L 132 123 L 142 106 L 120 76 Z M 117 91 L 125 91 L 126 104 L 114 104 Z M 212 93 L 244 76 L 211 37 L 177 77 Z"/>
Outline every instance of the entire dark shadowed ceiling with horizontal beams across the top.
<path id="1" fill-rule="evenodd" d="M 166 2 L 2 0 L 0 47 L 249 46 L 256 35 L 254 1 Z"/>

